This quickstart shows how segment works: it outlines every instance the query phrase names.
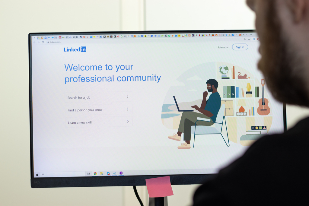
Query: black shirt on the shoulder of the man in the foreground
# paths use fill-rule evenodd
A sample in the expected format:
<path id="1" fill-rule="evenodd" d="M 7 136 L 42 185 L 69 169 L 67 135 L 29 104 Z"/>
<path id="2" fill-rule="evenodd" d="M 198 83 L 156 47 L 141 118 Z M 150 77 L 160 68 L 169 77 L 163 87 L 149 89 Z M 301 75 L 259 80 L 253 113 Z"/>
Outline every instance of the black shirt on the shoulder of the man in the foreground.
<path id="1" fill-rule="evenodd" d="M 309 118 L 267 135 L 197 189 L 194 205 L 309 204 Z"/>

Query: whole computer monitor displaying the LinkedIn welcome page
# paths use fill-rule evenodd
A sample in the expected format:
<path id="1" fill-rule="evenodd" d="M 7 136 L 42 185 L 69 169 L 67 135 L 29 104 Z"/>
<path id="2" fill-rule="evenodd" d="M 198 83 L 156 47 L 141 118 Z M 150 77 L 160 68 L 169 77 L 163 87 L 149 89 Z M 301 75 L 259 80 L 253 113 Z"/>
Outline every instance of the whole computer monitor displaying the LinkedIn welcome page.
<path id="1" fill-rule="evenodd" d="M 286 130 L 258 48 L 254 30 L 30 33 L 31 187 L 203 183 Z"/>

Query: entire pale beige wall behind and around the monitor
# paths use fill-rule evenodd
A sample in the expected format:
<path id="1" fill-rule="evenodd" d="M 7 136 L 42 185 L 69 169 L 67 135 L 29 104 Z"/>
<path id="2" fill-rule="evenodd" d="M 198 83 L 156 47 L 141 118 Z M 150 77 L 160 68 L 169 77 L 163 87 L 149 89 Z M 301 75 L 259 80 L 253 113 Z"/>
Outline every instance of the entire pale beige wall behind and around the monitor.
<path id="1" fill-rule="evenodd" d="M 132 187 L 30 187 L 28 33 L 254 29 L 254 18 L 244 0 L 0 0 L 0 205 L 138 205 Z M 308 115 L 287 107 L 288 128 Z M 192 204 L 197 187 L 173 185 L 168 204 Z"/>

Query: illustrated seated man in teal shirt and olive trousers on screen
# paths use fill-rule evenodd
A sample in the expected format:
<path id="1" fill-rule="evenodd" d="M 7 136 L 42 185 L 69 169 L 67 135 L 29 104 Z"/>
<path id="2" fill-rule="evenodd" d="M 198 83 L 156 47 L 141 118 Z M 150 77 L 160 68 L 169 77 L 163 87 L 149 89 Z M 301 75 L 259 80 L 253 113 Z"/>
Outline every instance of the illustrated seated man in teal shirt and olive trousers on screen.
<path id="1" fill-rule="evenodd" d="M 216 121 L 219 109 L 221 107 L 221 97 L 218 93 L 218 82 L 215 79 L 209 79 L 206 82 L 208 92 L 211 92 L 209 95 L 208 100 L 206 100 L 208 92 L 205 91 L 203 93 L 203 100 L 201 103 L 201 107 L 197 105 L 192 106 L 192 108 L 196 109 L 197 111 L 201 112 L 193 112 L 193 111 L 184 111 L 182 113 L 180 124 L 178 128 L 177 134 L 173 134 L 168 136 L 169 139 L 180 141 L 181 134 L 184 133 L 184 141 L 178 149 L 190 149 L 190 140 L 191 140 L 191 126 L 195 125 L 195 121 L 197 117 L 210 119 L 210 122 L 206 121 L 198 121 L 197 125 L 204 125 L 210 126 L 213 125 Z"/>

